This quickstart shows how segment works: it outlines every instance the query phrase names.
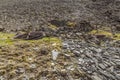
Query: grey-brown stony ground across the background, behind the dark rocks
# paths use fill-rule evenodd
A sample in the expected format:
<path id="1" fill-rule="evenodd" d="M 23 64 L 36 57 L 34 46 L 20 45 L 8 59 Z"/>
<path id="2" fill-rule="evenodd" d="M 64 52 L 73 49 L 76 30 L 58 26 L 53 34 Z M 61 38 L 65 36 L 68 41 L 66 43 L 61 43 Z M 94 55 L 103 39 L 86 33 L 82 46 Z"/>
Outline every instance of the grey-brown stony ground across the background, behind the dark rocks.
<path id="1" fill-rule="evenodd" d="M 119 0 L 1 0 L 0 26 L 6 31 L 26 31 L 29 27 L 39 30 L 55 20 L 120 26 L 119 3 Z"/>

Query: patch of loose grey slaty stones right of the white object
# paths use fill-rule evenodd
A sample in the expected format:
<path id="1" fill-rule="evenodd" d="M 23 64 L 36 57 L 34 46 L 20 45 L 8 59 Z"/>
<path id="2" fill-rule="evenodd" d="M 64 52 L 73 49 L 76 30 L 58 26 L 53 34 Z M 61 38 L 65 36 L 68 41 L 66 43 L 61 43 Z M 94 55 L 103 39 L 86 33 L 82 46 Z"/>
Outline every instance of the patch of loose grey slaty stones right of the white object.
<path id="1" fill-rule="evenodd" d="M 65 40 L 63 47 L 74 54 L 79 68 L 93 80 L 120 79 L 120 70 L 116 68 L 120 65 L 119 47 L 102 47 L 74 39 Z"/>

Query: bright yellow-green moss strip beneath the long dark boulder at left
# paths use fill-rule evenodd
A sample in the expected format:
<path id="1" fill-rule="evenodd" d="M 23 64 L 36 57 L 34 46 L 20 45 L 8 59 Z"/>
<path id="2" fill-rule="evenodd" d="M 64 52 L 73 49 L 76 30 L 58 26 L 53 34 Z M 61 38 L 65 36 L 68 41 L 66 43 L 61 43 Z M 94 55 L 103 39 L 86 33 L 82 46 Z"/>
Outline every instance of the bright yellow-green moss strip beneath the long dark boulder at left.
<path id="1" fill-rule="evenodd" d="M 36 43 L 36 44 L 49 44 L 49 43 L 57 43 L 60 44 L 61 40 L 56 37 L 45 37 L 38 40 L 21 40 L 21 39 L 13 39 L 15 34 L 13 33 L 0 33 L 0 45 L 12 45 L 12 44 L 19 44 L 19 43 Z"/>

